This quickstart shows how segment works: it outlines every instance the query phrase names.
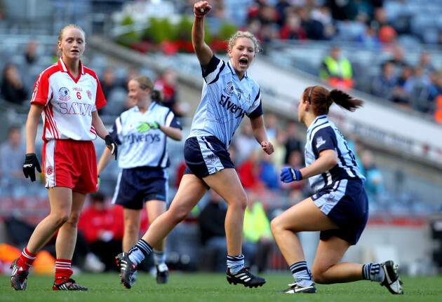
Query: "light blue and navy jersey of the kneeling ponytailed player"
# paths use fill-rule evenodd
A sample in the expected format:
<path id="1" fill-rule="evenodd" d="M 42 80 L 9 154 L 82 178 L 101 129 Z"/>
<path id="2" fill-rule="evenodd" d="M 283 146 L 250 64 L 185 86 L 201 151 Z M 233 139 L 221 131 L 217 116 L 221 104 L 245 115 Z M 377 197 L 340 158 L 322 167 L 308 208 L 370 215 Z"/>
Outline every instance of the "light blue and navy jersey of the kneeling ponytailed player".
<path id="1" fill-rule="evenodd" d="M 318 116 L 307 129 L 305 165 L 312 165 L 319 158 L 321 151 L 329 149 L 336 151 L 337 165 L 322 174 L 309 178 L 310 186 L 315 192 L 342 179 L 361 179 L 362 183 L 366 181 L 366 178 L 359 172 L 354 153 L 349 149 L 344 136 L 333 122 L 328 121 L 326 115 Z"/>

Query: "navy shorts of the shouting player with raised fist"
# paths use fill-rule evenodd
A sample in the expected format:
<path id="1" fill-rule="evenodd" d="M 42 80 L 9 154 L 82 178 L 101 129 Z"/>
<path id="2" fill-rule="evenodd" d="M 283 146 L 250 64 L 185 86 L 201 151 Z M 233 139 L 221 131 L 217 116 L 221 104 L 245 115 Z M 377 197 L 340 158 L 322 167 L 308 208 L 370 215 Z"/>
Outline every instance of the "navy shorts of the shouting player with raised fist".
<path id="1" fill-rule="evenodd" d="M 194 174 L 200 179 L 227 167 L 235 167 L 224 144 L 213 136 L 186 139 L 184 156 L 187 165 L 184 174 Z"/>

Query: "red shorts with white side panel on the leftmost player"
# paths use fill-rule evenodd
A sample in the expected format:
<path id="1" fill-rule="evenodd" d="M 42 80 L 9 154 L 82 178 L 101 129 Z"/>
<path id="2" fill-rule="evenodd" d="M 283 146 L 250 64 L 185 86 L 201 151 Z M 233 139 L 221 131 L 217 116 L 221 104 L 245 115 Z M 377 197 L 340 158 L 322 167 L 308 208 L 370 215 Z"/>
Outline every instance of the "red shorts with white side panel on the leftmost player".
<path id="1" fill-rule="evenodd" d="M 97 155 L 92 141 L 51 139 L 43 144 L 46 188 L 65 186 L 80 193 L 97 191 Z"/>

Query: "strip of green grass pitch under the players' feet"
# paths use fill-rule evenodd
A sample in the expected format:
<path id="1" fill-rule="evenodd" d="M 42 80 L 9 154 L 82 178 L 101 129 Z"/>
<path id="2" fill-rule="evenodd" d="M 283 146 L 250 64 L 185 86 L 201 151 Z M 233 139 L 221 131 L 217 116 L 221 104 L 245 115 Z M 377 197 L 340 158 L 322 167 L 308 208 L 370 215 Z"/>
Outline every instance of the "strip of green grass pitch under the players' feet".
<path id="1" fill-rule="evenodd" d="M 87 292 L 53 291 L 53 276 L 29 275 L 26 291 L 14 291 L 8 275 L 0 276 L 0 301 L 210 301 L 210 302 L 378 302 L 378 301 L 442 301 L 442 275 L 437 277 L 403 277 L 405 295 L 391 295 L 375 282 L 317 285 L 318 294 L 279 294 L 292 282 L 290 273 L 267 273 L 267 284 L 257 289 L 230 285 L 221 273 L 170 273 L 168 284 L 156 284 L 155 278 L 139 273 L 132 289 L 124 289 L 118 273 L 74 276 Z"/>

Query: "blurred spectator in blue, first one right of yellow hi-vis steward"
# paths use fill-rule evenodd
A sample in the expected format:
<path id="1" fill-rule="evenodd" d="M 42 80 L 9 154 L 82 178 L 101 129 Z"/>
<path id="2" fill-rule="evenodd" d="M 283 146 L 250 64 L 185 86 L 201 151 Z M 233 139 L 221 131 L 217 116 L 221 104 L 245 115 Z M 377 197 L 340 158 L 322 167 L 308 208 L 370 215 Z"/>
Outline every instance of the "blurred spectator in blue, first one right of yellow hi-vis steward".
<path id="1" fill-rule="evenodd" d="M 380 76 L 373 79 L 371 94 L 393 102 L 395 97 L 393 91 L 397 85 L 396 67 L 392 62 L 387 61 L 382 64 L 381 69 Z"/>

